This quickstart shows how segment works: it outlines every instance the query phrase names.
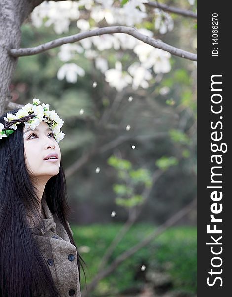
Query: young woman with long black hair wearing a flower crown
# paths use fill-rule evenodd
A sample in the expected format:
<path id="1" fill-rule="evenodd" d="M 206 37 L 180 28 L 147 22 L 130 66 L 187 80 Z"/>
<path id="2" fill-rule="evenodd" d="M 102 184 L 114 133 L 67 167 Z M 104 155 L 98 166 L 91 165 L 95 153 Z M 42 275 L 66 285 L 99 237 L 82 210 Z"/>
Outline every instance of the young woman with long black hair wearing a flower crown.
<path id="1" fill-rule="evenodd" d="M 0 297 L 81 297 L 83 259 L 58 145 L 63 121 L 39 103 L 0 116 Z"/>

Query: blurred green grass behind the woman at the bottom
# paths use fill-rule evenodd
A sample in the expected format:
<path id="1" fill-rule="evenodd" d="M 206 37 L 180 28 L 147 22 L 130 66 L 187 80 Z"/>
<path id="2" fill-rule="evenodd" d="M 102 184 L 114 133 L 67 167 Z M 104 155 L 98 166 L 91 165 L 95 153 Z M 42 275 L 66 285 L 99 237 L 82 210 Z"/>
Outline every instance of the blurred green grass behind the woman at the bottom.
<path id="1" fill-rule="evenodd" d="M 93 224 L 72 226 L 79 252 L 87 263 L 87 284 L 97 273 L 98 264 L 122 224 Z M 113 261 L 125 250 L 136 245 L 154 231 L 155 226 L 137 223 L 125 235 L 114 250 Z M 145 264 L 145 271 L 141 266 Z M 141 287 L 148 270 L 166 272 L 171 276 L 175 290 L 186 293 L 197 292 L 197 229 L 196 227 L 174 227 L 155 238 L 149 245 L 119 265 L 111 275 L 101 280 L 91 296 L 116 296 L 125 289 Z M 135 279 L 139 274 L 140 278 Z M 81 288 L 85 288 L 81 270 Z M 110 294 L 110 295 L 109 295 Z"/>

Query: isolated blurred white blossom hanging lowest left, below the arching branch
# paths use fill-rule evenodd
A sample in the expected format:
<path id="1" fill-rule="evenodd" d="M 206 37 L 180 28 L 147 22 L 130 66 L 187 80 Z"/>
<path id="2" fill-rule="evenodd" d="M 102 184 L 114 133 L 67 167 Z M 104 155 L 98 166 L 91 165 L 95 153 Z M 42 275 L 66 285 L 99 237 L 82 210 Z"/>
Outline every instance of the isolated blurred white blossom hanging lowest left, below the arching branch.
<path id="1" fill-rule="evenodd" d="M 78 75 L 84 76 L 85 71 L 75 63 L 66 63 L 57 72 L 57 78 L 59 80 L 66 78 L 69 83 L 76 83 Z"/>

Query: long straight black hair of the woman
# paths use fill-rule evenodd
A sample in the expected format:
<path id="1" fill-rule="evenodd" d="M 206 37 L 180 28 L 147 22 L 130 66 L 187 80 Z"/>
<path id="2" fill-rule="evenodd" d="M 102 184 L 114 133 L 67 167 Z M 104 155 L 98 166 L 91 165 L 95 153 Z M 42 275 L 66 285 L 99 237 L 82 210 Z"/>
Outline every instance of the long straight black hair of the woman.
<path id="1" fill-rule="evenodd" d="M 9 111 L 15 113 L 19 108 Z M 5 123 L 0 116 L 0 122 Z M 59 296 L 51 272 L 29 229 L 29 221 L 43 221 L 31 173 L 25 163 L 24 123 L 9 137 L 0 139 L 0 297 L 32 297 L 35 292 Z M 35 178 L 35 177 L 33 177 Z M 47 205 L 63 224 L 70 242 L 76 247 L 67 221 L 71 213 L 67 201 L 66 179 L 62 164 L 44 189 Z M 77 251 L 77 266 L 86 265 Z M 87 265 L 86 265 L 87 266 Z M 84 271 L 84 269 L 83 269 Z M 85 272 L 84 272 L 85 275 Z M 86 284 L 86 277 L 85 277 Z"/>

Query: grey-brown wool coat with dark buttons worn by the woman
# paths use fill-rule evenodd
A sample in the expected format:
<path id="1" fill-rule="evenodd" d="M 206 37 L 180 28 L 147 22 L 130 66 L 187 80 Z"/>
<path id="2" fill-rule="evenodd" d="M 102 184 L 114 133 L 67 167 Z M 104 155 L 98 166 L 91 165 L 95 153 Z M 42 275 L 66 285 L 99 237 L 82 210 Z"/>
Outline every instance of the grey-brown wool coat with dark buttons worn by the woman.
<path id="1" fill-rule="evenodd" d="M 46 219 L 43 219 L 45 228 L 38 225 L 30 228 L 30 231 L 51 271 L 56 288 L 60 292 L 59 297 L 81 297 L 76 247 L 70 243 L 57 215 L 51 213 L 45 198 L 42 198 L 42 207 L 46 215 Z M 71 230 L 69 223 L 68 226 Z M 71 233 L 73 234 L 72 230 Z M 49 294 L 45 297 L 49 297 Z"/>

